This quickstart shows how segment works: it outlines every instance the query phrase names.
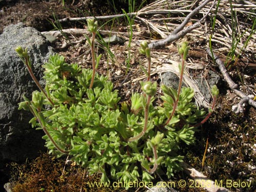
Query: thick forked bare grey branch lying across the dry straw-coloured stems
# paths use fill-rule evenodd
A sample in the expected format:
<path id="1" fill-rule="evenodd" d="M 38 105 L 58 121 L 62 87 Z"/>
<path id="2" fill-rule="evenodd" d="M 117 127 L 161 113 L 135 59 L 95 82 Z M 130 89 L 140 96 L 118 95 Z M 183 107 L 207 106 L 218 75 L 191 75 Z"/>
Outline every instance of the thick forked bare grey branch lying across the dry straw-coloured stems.
<path id="1" fill-rule="evenodd" d="M 195 24 L 188 26 L 184 29 L 184 27 L 187 25 L 187 23 L 189 22 L 190 18 L 193 17 L 196 13 L 198 13 L 207 3 L 211 2 L 212 0 L 205 0 L 200 6 L 198 6 L 196 9 L 194 9 L 193 11 L 191 11 L 183 20 L 183 22 L 172 32 L 170 33 L 165 39 L 161 39 L 155 42 L 152 42 L 150 45 L 148 45 L 149 48 L 154 48 L 154 49 L 159 49 L 161 47 L 165 47 L 167 44 L 169 44 L 170 42 L 173 42 L 181 37 L 183 37 L 184 35 L 186 35 L 188 32 L 200 27 L 200 23 L 202 22 L 202 20 L 204 20 L 206 18 L 206 16 L 209 14 L 209 12 L 211 11 L 212 7 L 214 7 L 215 2 L 212 4 L 212 6 L 210 7 L 210 9 L 207 11 L 207 13 L 204 15 L 203 18 L 201 18 L 198 22 L 196 22 Z"/>

